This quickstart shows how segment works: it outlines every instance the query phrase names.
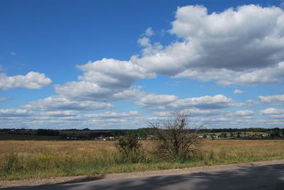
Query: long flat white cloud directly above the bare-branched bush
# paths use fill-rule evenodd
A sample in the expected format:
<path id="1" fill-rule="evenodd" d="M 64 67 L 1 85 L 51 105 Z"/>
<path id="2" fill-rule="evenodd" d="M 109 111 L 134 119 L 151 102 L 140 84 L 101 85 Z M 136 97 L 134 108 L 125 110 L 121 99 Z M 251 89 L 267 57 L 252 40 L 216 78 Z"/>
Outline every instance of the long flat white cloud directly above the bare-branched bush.
<path id="1" fill-rule="evenodd" d="M 184 108 L 202 108 L 202 109 L 219 109 L 236 106 L 233 99 L 219 94 L 216 96 L 201 96 L 187 99 L 178 99 L 174 95 L 156 95 L 148 94 L 136 104 L 143 108 L 149 109 L 184 109 Z"/>

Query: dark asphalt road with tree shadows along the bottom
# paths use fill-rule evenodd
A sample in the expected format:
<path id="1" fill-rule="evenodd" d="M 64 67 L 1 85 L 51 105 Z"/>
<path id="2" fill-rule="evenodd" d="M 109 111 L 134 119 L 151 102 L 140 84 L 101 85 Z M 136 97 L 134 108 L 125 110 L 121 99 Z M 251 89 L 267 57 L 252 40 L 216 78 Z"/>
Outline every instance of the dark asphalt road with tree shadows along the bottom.
<path id="1" fill-rule="evenodd" d="M 43 186 L 21 186 L 6 189 L 277 189 L 284 190 L 284 164 L 243 167 L 215 172 L 199 172 L 157 177 L 114 179 L 62 183 Z"/>

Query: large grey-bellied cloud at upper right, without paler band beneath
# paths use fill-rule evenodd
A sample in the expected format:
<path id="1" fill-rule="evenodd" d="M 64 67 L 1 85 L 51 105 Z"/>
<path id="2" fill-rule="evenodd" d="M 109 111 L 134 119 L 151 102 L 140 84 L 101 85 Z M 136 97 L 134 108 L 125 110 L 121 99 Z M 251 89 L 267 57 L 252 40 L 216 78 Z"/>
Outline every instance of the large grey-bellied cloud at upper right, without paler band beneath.
<path id="1" fill-rule="evenodd" d="M 244 71 L 283 60 L 284 12 L 277 7 L 239 6 L 208 14 L 204 6 L 183 6 L 175 18 L 170 33 L 182 42 L 133 62 L 175 75 L 192 67 Z"/>

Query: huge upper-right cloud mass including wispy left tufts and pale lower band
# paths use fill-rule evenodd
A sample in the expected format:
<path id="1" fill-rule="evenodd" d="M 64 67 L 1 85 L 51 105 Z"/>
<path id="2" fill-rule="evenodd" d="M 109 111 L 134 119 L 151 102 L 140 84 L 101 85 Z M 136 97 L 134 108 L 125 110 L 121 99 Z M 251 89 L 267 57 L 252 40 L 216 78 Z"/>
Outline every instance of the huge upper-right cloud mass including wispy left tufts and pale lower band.
<path id="1" fill-rule="evenodd" d="M 131 57 L 133 64 L 222 85 L 284 82 L 283 10 L 249 5 L 208 14 L 203 6 L 183 6 L 175 17 L 170 33 L 181 40 L 153 47 L 149 38 L 141 38 L 146 48 L 142 57 Z"/>

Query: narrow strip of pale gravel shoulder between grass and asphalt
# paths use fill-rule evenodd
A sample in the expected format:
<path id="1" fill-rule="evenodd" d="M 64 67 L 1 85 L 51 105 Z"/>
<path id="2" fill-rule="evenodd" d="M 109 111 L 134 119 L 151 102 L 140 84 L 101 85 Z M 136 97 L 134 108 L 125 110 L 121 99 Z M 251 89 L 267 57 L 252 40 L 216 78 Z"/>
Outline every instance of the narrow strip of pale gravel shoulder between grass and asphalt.
<path id="1" fill-rule="evenodd" d="M 165 175 L 176 175 L 176 174 L 190 174 L 198 172 L 212 172 L 226 169 L 236 169 L 240 167 L 256 167 L 266 166 L 272 164 L 284 164 L 284 160 L 273 160 L 264 162 L 249 162 L 244 164 L 227 164 L 217 166 L 206 166 L 206 167 L 191 167 L 184 169 L 167 169 L 167 170 L 155 170 L 146 172 L 131 172 L 131 173 L 119 173 L 119 174 L 98 174 L 92 176 L 76 176 L 76 177 L 56 177 L 50 179 L 26 179 L 26 180 L 15 180 L 15 181 L 0 181 L 0 189 L 6 187 L 16 186 L 40 186 L 46 184 L 59 184 L 59 183 L 76 183 L 82 181 L 107 181 L 114 179 L 128 179 L 136 177 L 153 177 L 153 176 L 165 176 Z"/>

